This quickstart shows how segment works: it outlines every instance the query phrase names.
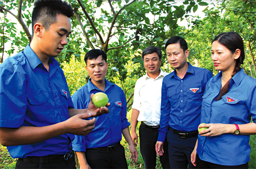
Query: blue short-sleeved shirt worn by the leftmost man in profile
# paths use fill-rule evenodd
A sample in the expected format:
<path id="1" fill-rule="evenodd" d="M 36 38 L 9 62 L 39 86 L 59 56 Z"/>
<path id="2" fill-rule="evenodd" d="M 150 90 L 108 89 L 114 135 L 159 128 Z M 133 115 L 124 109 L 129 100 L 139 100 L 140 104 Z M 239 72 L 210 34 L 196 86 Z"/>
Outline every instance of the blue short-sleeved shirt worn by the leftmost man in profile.
<path id="1" fill-rule="evenodd" d="M 49 58 L 48 72 L 28 45 L 0 65 L 0 76 L 0 127 L 43 127 L 69 118 L 68 108 L 74 105 L 64 73 L 54 58 Z M 65 134 L 7 149 L 13 158 L 65 154 L 73 139 L 73 135 Z"/>

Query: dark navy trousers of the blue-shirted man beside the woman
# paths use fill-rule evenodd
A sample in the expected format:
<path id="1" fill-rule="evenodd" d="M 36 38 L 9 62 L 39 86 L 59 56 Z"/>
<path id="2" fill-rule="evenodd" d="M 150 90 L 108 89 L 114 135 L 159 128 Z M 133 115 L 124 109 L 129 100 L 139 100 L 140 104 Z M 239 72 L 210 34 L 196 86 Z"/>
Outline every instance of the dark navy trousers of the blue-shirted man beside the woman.
<path id="1" fill-rule="evenodd" d="M 191 153 L 195 148 L 197 137 L 180 138 L 170 129 L 167 133 L 168 153 L 171 169 L 196 168 L 190 161 Z"/>

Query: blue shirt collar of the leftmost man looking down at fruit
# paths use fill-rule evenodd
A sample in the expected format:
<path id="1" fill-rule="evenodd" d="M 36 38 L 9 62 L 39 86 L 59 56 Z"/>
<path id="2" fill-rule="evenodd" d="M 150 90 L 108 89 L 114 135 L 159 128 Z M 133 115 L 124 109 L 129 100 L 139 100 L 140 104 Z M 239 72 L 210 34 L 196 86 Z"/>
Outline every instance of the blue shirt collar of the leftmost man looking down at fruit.
<path id="1" fill-rule="evenodd" d="M 28 44 L 28 46 L 24 49 L 24 54 L 25 54 L 26 58 L 28 59 L 30 67 L 34 70 L 42 62 L 40 61 L 38 56 L 35 54 L 35 52 L 31 49 L 31 47 L 29 45 L 30 44 Z M 49 57 L 49 64 L 52 65 L 52 68 L 50 68 L 50 69 L 52 69 L 53 71 L 55 71 L 55 69 L 57 69 L 59 67 L 59 63 L 56 61 L 55 58 L 52 58 L 52 57 Z"/>

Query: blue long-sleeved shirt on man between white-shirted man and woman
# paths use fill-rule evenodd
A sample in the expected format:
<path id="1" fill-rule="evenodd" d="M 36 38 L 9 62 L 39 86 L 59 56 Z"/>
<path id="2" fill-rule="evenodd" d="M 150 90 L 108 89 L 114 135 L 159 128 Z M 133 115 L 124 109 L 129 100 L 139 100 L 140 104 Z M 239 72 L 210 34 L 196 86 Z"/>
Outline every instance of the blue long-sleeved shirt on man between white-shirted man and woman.
<path id="1" fill-rule="evenodd" d="M 213 77 L 207 69 L 197 68 L 190 63 L 181 79 L 176 71 L 163 79 L 160 128 L 157 141 L 164 142 L 168 125 L 180 131 L 197 130 L 200 124 L 202 96 L 207 81 Z"/>

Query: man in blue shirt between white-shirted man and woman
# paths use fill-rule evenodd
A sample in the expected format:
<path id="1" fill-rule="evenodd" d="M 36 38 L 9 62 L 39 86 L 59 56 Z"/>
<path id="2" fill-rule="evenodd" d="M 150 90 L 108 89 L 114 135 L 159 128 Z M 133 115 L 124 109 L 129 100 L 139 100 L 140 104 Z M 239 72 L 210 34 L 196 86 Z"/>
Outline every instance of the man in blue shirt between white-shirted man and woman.
<path id="1" fill-rule="evenodd" d="M 202 95 L 207 81 L 213 77 L 207 69 L 197 68 L 187 62 L 187 42 L 174 36 L 165 44 L 168 62 L 175 71 L 163 79 L 161 117 L 156 152 L 168 144 L 171 168 L 194 168 L 190 155 L 197 140 L 200 124 Z M 168 143 L 164 143 L 167 137 Z"/>

